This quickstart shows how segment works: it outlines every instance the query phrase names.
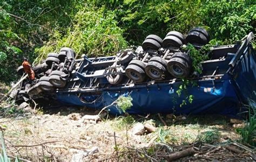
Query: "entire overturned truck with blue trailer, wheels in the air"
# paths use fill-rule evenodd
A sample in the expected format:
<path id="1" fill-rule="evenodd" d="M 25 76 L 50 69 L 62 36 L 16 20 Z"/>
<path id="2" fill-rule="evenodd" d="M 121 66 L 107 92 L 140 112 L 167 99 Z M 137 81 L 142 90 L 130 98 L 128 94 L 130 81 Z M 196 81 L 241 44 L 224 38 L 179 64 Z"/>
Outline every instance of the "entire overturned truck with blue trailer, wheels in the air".
<path id="1" fill-rule="evenodd" d="M 237 44 L 212 47 L 206 53 L 209 59 L 201 62 L 201 74 L 192 67 L 190 51 L 182 48 L 190 43 L 200 49 L 210 41 L 200 27 L 185 38 L 177 31 L 167 33 L 163 40 L 149 35 L 142 46 L 120 50 L 111 57 L 75 59 L 75 51 L 64 47 L 33 67 L 37 79 L 24 80 L 15 100 L 56 100 L 102 109 L 120 96 L 130 96 L 133 105 L 126 112 L 131 114 L 236 115 L 248 98 L 256 99 L 253 37 L 251 32 Z M 22 67 L 18 73 L 23 73 Z M 184 79 L 188 83 L 177 93 Z M 123 112 L 115 104 L 108 110 L 111 114 Z"/>

